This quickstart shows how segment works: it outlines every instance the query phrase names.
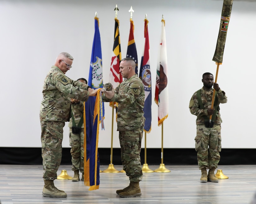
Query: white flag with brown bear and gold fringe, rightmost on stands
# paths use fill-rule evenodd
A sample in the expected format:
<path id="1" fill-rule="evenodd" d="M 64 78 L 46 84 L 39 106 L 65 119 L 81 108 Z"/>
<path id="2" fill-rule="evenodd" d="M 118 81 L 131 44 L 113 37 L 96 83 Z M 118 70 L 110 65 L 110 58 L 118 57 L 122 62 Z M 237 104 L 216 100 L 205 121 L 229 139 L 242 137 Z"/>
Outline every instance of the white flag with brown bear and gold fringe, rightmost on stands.
<path id="1" fill-rule="evenodd" d="M 159 43 L 156 68 L 155 103 L 158 105 L 158 126 L 168 117 L 168 68 L 165 40 L 165 21 L 162 19 L 162 33 Z"/>

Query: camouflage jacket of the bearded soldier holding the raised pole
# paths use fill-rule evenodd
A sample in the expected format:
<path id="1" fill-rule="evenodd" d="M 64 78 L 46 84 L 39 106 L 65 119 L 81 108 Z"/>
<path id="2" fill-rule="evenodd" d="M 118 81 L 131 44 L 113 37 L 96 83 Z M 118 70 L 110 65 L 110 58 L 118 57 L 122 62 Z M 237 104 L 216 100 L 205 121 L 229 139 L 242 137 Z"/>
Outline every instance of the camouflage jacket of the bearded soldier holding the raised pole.
<path id="1" fill-rule="evenodd" d="M 218 102 L 216 104 L 217 107 L 220 103 L 222 103 L 222 104 L 227 103 L 227 96 L 226 96 L 225 92 L 222 91 L 221 89 L 219 89 L 216 96 L 218 98 Z M 197 98 L 197 91 L 191 97 L 191 100 L 189 102 L 189 109 L 190 109 L 191 114 L 197 116 L 196 125 L 203 125 L 204 121 L 205 121 L 204 116 L 209 117 L 207 109 L 211 108 L 212 97 L 213 97 L 213 88 L 210 91 L 205 91 L 204 87 L 201 88 L 201 99 L 202 99 L 204 109 L 199 108 L 199 102 L 198 102 L 198 98 Z M 222 123 L 222 120 L 221 120 L 221 117 L 220 117 L 220 113 L 218 111 L 217 114 L 216 114 L 216 117 L 215 117 L 214 124 L 219 125 L 221 123 Z"/>

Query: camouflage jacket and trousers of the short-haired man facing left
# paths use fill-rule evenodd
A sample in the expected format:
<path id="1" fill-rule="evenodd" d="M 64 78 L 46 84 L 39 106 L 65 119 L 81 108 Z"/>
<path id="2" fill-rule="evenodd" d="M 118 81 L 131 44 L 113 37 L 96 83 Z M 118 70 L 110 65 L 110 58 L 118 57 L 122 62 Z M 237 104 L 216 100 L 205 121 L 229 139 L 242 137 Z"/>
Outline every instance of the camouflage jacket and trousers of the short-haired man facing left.
<path id="1" fill-rule="evenodd" d="M 110 100 L 103 94 L 104 101 L 118 102 L 117 130 L 121 147 L 123 169 L 130 181 L 142 179 L 141 140 L 144 128 L 144 86 L 137 74 L 123 81 Z"/>

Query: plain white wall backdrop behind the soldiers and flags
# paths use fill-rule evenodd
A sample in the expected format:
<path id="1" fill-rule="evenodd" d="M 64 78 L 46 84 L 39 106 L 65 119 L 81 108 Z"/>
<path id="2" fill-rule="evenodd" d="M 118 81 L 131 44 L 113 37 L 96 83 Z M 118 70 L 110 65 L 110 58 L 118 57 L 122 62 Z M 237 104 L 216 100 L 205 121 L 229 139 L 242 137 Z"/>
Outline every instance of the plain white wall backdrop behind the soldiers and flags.
<path id="1" fill-rule="evenodd" d="M 164 148 L 194 148 L 196 116 L 189 112 L 192 94 L 200 89 L 204 72 L 215 76 L 215 51 L 222 0 L 0 0 L 1 134 L 0 147 L 41 147 L 39 109 L 44 78 L 57 55 L 74 57 L 71 79 L 88 79 L 94 16 L 100 22 L 103 82 L 110 72 L 114 39 L 115 5 L 122 58 L 128 44 L 132 6 L 134 38 L 140 65 L 144 46 L 144 18 L 149 21 L 152 77 L 152 130 L 147 148 L 161 148 L 154 102 L 157 53 L 164 14 L 167 54 L 169 116 L 164 121 Z M 222 148 L 255 148 L 256 2 L 234 0 L 228 27 L 219 86 L 228 97 L 221 104 Z M 111 108 L 105 103 L 105 130 L 99 147 L 111 144 Z M 119 147 L 114 122 L 113 147 Z M 144 140 L 143 140 L 144 147 Z M 63 147 L 69 147 L 67 123 Z"/>

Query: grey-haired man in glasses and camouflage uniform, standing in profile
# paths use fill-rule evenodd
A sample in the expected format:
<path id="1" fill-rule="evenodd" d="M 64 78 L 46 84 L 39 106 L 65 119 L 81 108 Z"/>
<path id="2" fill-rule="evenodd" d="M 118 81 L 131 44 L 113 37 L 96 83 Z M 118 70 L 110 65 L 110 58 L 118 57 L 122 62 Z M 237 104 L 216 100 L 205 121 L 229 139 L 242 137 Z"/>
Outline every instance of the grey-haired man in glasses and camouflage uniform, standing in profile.
<path id="1" fill-rule="evenodd" d="M 87 84 L 65 76 L 72 62 L 73 57 L 69 53 L 60 53 L 44 80 L 40 108 L 44 197 L 67 197 L 64 191 L 54 186 L 53 181 L 61 164 L 63 127 L 70 119 L 70 98 L 87 101 L 89 96 L 97 93 Z"/>

